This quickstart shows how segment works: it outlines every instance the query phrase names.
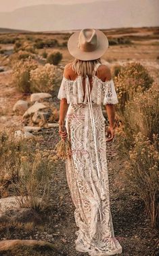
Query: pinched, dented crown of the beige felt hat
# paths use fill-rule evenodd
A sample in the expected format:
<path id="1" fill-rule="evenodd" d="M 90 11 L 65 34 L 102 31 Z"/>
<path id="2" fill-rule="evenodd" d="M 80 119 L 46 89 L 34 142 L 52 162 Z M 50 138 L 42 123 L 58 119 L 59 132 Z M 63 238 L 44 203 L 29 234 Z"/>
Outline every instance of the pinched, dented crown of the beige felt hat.
<path id="1" fill-rule="evenodd" d="M 97 49 L 97 33 L 95 29 L 82 29 L 78 35 L 77 46 L 83 52 L 93 52 Z"/>

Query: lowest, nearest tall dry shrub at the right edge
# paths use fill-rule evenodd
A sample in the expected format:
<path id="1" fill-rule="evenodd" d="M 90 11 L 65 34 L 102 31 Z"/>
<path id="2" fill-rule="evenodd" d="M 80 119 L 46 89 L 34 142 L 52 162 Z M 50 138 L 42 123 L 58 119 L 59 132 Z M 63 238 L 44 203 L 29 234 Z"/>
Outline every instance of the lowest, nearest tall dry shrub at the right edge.
<path id="1" fill-rule="evenodd" d="M 159 139 L 153 134 L 153 141 L 138 132 L 134 136 L 135 145 L 129 151 L 126 178 L 137 196 L 145 203 L 145 211 L 150 216 L 152 227 L 158 227 L 159 220 Z"/>

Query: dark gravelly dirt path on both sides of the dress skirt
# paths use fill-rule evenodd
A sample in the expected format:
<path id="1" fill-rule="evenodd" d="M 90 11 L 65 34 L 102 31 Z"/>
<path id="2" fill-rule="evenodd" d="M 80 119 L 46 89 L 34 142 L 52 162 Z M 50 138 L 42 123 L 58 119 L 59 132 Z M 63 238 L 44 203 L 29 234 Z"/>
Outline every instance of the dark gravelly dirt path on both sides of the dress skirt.
<path id="1" fill-rule="evenodd" d="M 51 149 L 59 140 L 58 128 L 41 132 L 42 149 Z M 129 187 L 121 178 L 124 159 L 120 160 L 116 140 L 107 143 L 108 175 L 110 179 L 110 202 L 116 238 L 120 241 L 124 256 L 152 256 L 157 242 L 157 232 L 150 227 L 150 220 L 145 216 L 143 204 L 131 194 Z M 53 168 L 51 190 L 51 208 L 45 212 L 44 230 L 53 235 L 53 243 L 59 246 L 59 255 L 88 255 L 74 249 L 75 232 L 78 230 L 74 221 L 74 205 L 66 181 L 65 162 L 59 161 Z M 32 238 L 36 238 L 32 234 Z M 43 237 L 39 232 L 37 238 Z M 45 238 L 43 238 L 45 240 Z M 47 239 L 46 239 L 47 240 Z M 57 255 L 58 256 L 58 255 Z"/>

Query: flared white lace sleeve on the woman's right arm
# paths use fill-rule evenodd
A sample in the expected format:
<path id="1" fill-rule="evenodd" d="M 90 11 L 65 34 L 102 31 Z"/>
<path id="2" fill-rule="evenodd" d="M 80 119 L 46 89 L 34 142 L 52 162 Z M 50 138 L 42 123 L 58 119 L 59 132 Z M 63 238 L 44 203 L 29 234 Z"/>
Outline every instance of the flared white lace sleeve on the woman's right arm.
<path id="1" fill-rule="evenodd" d="M 116 88 L 114 86 L 114 81 L 106 81 L 103 84 L 104 100 L 103 105 L 106 104 L 116 104 L 118 103 L 118 96 L 116 94 Z"/>

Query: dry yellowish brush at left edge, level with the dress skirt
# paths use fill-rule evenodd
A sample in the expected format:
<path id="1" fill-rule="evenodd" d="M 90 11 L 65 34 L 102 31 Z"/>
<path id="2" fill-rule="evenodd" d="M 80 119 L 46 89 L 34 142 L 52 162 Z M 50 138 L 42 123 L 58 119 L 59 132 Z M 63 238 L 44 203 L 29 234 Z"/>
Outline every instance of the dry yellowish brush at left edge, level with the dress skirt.
<path id="1" fill-rule="evenodd" d="M 52 152 L 33 148 L 32 139 L 15 139 L 4 130 L 0 134 L 1 196 L 8 191 L 22 207 L 43 210 L 49 206 Z"/>

